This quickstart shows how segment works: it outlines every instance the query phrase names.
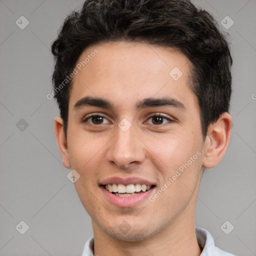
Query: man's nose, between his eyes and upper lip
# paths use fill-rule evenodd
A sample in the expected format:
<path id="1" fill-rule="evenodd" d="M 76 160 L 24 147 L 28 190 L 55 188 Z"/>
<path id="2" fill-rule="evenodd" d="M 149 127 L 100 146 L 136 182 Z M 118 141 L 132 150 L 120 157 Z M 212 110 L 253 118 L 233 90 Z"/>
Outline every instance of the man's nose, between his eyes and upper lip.
<path id="1" fill-rule="evenodd" d="M 117 126 L 117 133 L 111 139 L 107 151 L 107 160 L 119 168 L 127 169 L 131 165 L 142 163 L 145 158 L 143 148 L 144 144 L 141 138 L 134 133 L 132 125 L 126 131 Z"/>

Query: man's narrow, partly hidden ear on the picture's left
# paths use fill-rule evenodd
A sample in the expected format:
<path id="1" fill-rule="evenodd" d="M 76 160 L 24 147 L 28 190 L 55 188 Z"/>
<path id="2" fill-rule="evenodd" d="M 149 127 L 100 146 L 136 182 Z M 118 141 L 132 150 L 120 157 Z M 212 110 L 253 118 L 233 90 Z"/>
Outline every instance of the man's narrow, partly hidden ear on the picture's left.
<path id="1" fill-rule="evenodd" d="M 63 128 L 63 120 L 60 116 L 54 119 L 55 137 L 58 145 L 58 150 L 63 160 L 63 165 L 70 169 L 69 154 L 67 149 L 66 137 Z"/>

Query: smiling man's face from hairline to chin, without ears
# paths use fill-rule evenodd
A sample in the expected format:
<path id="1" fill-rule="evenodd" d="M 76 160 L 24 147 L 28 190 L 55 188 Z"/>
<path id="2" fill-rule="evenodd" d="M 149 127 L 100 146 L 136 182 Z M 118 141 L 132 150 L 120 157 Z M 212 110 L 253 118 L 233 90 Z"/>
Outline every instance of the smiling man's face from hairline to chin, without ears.
<path id="1" fill-rule="evenodd" d="M 88 55 L 70 91 L 67 151 L 93 229 L 137 241 L 185 225 L 203 158 L 189 60 L 127 42 L 87 48 L 77 64 Z"/>

